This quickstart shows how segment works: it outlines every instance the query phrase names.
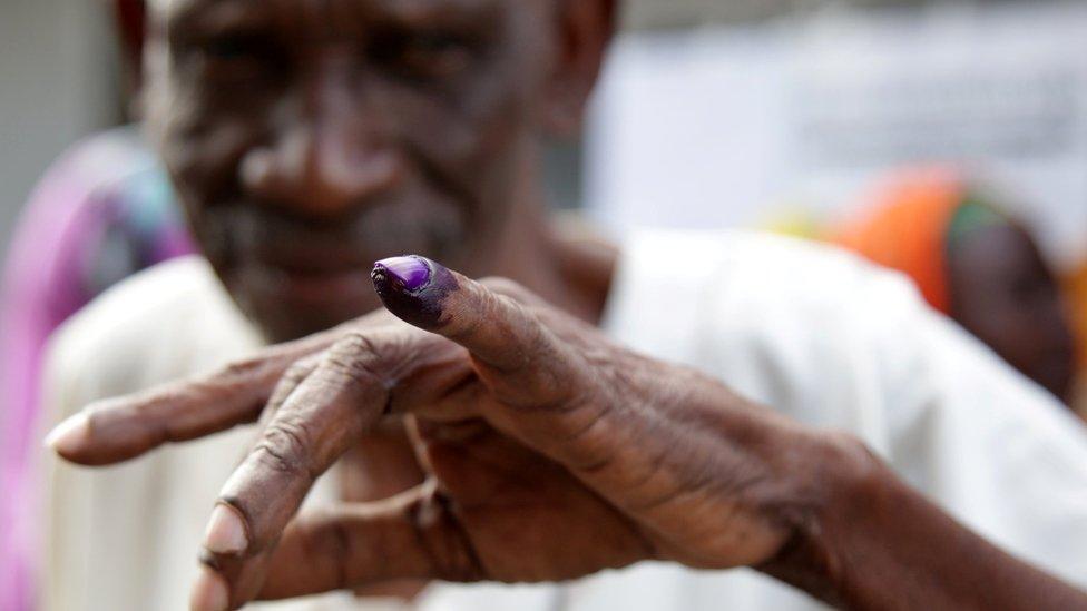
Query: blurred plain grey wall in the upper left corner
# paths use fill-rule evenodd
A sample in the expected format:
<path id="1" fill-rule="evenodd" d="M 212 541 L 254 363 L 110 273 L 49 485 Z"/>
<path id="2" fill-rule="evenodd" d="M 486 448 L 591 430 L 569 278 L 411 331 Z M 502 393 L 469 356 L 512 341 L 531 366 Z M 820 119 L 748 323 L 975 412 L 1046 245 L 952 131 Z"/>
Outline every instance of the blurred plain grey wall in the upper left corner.
<path id="1" fill-rule="evenodd" d="M 119 117 L 110 28 L 105 0 L 0 2 L 0 258 L 41 173 Z"/>

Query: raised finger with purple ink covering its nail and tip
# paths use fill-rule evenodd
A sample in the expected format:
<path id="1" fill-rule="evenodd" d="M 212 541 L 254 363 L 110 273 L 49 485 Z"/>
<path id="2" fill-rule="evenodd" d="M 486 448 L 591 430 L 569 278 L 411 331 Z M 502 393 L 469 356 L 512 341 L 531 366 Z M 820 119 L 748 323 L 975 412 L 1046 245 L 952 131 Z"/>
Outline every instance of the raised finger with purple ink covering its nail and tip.
<path id="1" fill-rule="evenodd" d="M 575 471 L 607 460 L 601 435 L 621 416 L 597 394 L 609 372 L 594 364 L 608 349 L 595 331 L 423 257 L 380 262 L 373 279 L 393 314 L 468 349 L 487 390 L 476 408 L 494 428 Z"/>

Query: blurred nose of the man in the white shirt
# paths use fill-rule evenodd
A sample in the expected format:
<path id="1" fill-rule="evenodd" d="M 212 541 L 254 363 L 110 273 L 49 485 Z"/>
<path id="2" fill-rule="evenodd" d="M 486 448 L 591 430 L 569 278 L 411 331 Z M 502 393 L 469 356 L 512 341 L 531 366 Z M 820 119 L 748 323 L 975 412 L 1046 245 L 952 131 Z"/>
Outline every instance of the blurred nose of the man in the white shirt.
<path id="1" fill-rule="evenodd" d="M 336 216 L 392 187 L 402 158 L 341 79 L 305 93 L 298 111 L 267 146 L 242 159 L 242 184 L 262 201 L 310 216 Z"/>

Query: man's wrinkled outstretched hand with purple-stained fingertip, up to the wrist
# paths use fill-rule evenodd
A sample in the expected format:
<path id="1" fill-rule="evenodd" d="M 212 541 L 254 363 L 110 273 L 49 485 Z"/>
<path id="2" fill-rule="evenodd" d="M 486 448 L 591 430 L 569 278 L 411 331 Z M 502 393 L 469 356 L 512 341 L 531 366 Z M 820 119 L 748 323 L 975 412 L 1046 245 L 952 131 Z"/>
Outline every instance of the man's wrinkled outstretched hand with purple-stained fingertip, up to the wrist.
<path id="1" fill-rule="evenodd" d="M 421 288 L 375 273 L 414 326 L 379 313 L 112 400 L 57 444 L 105 464 L 259 414 L 209 526 L 214 571 L 194 608 L 219 607 L 224 584 L 236 608 L 401 579 L 559 581 L 648 559 L 758 565 L 810 518 L 822 436 L 511 283 L 417 263 L 429 267 Z M 316 477 L 396 418 L 422 485 L 296 515 Z"/>

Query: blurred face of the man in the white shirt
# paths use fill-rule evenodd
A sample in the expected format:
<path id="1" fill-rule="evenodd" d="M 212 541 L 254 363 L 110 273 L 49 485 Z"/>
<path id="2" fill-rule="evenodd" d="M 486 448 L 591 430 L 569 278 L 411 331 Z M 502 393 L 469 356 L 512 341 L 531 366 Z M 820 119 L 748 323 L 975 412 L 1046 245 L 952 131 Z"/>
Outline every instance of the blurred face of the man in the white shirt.
<path id="1" fill-rule="evenodd" d="M 545 115 L 548 0 L 160 0 L 148 124 L 205 254 L 272 339 L 379 303 L 374 260 L 469 273 Z"/>

